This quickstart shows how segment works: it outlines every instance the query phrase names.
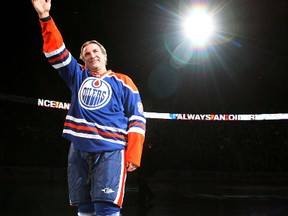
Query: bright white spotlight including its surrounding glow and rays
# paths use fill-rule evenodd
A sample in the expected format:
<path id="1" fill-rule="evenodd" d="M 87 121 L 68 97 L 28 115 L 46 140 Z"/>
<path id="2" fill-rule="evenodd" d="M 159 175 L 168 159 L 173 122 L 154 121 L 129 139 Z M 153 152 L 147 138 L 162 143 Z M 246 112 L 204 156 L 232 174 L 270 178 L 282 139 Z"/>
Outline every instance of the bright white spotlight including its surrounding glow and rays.
<path id="1" fill-rule="evenodd" d="M 220 61 L 221 44 L 241 47 L 234 40 L 238 25 L 228 1 L 189 0 L 174 1 L 176 8 L 158 6 L 171 15 L 171 29 L 164 35 L 165 48 L 171 55 L 171 65 L 180 69 L 186 65 L 200 65 L 208 61 Z M 175 20 L 174 20 L 175 18 Z"/>

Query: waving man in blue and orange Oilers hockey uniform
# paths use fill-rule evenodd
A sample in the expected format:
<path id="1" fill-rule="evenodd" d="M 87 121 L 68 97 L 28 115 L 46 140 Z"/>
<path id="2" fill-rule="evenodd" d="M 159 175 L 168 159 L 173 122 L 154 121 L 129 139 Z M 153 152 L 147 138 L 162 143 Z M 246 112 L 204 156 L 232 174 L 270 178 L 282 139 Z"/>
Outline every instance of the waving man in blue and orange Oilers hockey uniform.
<path id="1" fill-rule="evenodd" d="M 141 97 L 133 81 L 107 70 L 96 40 L 80 50 L 81 65 L 66 48 L 50 15 L 51 0 L 32 0 L 39 16 L 43 53 L 71 91 L 63 137 L 71 142 L 68 189 L 79 216 L 119 216 L 127 171 L 140 167 L 146 132 Z"/>

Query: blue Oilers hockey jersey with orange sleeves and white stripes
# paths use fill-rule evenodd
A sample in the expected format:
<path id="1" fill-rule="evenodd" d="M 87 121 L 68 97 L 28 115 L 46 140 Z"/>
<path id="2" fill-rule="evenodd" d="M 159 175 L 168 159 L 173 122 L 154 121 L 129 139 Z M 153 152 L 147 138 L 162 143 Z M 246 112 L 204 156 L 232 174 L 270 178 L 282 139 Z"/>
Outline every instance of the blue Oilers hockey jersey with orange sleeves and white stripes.
<path id="1" fill-rule="evenodd" d="M 92 76 L 68 51 L 52 17 L 40 24 L 43 52 L 71 91 L 63 137 L 87 152 L 126 149 L 126 160 L 140 166 L 146 119 L 136 85 L 111 70 Z"/>

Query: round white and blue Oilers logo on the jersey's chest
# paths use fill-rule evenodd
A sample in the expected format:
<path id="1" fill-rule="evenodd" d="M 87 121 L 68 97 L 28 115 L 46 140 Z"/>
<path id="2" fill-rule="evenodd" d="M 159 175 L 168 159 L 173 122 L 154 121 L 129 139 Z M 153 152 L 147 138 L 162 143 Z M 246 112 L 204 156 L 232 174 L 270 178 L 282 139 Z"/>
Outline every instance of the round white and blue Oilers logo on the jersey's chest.
<path id="1" fill-rule="evenodd" d="M 111 96 L 111 86 L 105 80 L 95 77 L 85 79 L 78 92 L 81 106 L 89 110 L 104 107 L 110 101 Z"/>

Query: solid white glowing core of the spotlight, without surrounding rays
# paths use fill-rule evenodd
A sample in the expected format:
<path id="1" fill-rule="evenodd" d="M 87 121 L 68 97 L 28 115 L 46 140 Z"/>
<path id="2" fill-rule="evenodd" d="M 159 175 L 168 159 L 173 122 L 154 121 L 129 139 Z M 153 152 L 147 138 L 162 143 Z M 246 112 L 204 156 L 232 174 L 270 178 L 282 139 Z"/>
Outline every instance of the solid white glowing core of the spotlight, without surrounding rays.
<path id="1" fill-rule="evenodd" d="M 205 47 L 213 30 L 212 17 L 203 6 L 194 7 L 183 21 L 183 31 L 193 47 Z"/>

